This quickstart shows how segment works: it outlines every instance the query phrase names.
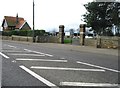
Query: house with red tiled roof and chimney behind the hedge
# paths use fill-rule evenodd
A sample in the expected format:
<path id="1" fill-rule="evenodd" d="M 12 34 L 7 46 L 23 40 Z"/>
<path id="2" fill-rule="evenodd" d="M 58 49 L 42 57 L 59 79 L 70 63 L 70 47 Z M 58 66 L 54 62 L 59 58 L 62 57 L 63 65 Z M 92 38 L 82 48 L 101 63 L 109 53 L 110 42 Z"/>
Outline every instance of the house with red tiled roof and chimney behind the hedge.
<path id="1" fill-rule="evenodd" d="M 24 18 L 12 16 L 4 16 L 2 22 L 3 31 L 11 30 L 31 30 L 29 24 L 24 20 Z"/>

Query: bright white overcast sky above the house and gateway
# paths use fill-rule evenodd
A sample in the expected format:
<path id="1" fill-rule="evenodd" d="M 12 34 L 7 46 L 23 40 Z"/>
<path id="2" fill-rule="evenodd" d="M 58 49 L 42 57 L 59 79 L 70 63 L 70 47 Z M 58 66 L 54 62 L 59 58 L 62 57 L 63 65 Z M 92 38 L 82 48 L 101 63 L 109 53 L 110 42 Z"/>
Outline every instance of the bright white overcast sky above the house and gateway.
<path id="1" fill-rule="evenodd" d="M 35 29 L 46 31 L 59 30 L 64 25 L 65 30 L 78 29 L 82 15 L 86 13 L 84 4 L 93 0 L 34 0 Z M 33 23 L 33 0 L 1 0 L 0 25 L 4 16 L 23 17 L 30 27 Z"/>

